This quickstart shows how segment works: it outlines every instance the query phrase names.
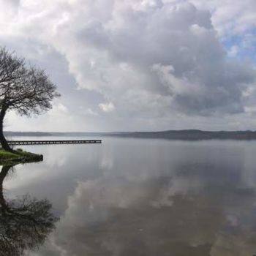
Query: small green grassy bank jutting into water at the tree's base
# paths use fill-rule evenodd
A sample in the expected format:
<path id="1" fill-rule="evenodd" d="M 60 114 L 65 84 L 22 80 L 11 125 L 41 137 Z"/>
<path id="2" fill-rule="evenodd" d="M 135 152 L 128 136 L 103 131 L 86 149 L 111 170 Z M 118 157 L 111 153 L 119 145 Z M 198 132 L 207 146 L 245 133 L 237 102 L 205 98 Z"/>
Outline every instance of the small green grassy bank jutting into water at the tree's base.
<path id="1" fill-rule="evenodd" d="M 0 165 L 10 165 L 24 162 L 39 162 L 42 161 L 42 159 L 42 155 L 26 152 L 22 149 L 9 152 L 0 148 Z"/>

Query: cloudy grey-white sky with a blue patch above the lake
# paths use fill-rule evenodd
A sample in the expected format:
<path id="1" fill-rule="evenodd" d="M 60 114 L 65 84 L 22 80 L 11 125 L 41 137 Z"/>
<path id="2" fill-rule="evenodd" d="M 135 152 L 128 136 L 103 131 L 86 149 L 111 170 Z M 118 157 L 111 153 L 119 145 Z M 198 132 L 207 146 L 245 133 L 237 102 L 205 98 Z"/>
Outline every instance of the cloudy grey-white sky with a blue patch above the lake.
<path id="1" fill-rule="evenodd" d="M 59 99 L 5 129 L 256 129 L 255 0 L 0 0 L 0 45 Z"/>

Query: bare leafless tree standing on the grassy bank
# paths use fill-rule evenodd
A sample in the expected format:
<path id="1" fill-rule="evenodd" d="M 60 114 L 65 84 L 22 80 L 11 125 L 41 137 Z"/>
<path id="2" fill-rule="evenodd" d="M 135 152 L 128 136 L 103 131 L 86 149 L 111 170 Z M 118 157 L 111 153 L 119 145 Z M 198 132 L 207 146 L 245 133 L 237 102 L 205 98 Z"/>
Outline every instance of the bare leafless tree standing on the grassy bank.
<path id="1" fill-rule="evenodd" d="M 45 70 L 31 67 L 25 59 L 0 48 L 0 143 L 12 151 L 4 138 L 4 116 L 8 110 L 16 110 L 20 116 L 31 116 L 49 110 L 52 100 L 59 97 L 56 85 Z"/>

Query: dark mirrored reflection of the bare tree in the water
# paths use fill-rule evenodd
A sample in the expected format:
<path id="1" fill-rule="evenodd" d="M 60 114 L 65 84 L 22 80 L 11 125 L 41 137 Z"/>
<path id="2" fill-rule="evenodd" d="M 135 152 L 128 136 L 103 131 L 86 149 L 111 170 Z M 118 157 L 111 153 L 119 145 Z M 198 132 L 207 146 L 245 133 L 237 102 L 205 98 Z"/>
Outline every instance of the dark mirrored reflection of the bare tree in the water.
<path id="1" fill-rule="evenodd" d="M 13 200 L 4 198 L 3 181 L 13 166 L 3 166 L 0 173 L 0 256 L 20 256 L 45 241 L 57 218 L 48 200 L 29 195 Z"/>

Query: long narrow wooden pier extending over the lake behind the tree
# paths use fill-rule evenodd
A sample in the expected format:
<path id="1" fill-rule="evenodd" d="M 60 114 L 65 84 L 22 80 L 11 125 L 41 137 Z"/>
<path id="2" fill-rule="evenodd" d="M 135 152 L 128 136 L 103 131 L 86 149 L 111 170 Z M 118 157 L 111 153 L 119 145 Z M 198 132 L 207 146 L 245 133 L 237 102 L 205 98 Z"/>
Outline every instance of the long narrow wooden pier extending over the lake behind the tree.
<path id="1" fill-rule="evenodd" d="M 10 140 L 8 144 L 14 145 L 52 145 L 52 144 L 91 144 L 102 143 L 102 140 Z"/>

